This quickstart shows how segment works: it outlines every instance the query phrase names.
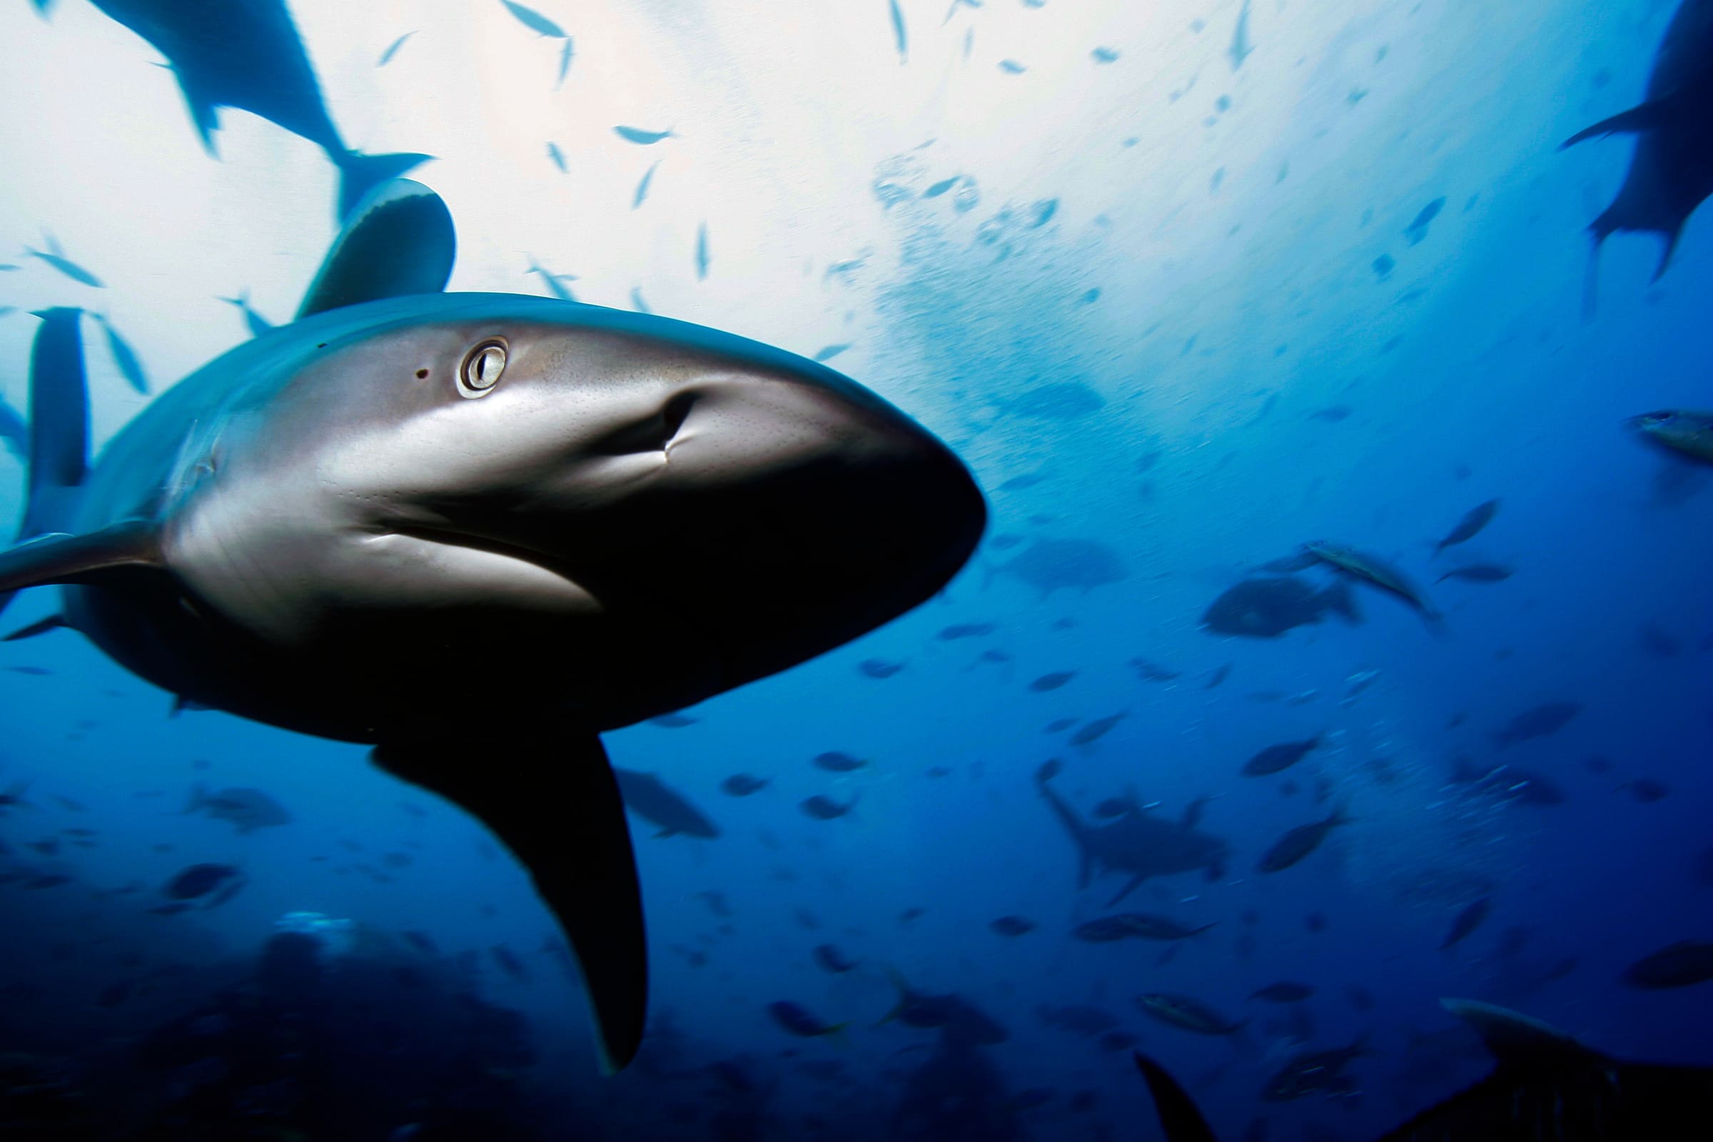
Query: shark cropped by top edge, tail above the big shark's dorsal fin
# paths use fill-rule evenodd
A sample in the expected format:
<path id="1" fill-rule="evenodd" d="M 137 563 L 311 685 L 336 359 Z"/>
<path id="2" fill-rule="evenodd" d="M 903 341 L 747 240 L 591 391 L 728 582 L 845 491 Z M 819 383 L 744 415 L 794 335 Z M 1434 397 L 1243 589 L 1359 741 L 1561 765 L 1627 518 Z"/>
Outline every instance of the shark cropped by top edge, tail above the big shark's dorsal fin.
<path id="1" fill-rule="evenodd" d="M 53 0 L 36 0 L 43 15 Z M 339 168 L 339 216 L 427 154 L 360 154 L 327 115 L 284 0 L 91 0 L 166 57 L 202 147 L 214 154 L 219 108 L 259 115 L 313 142 Z"/>

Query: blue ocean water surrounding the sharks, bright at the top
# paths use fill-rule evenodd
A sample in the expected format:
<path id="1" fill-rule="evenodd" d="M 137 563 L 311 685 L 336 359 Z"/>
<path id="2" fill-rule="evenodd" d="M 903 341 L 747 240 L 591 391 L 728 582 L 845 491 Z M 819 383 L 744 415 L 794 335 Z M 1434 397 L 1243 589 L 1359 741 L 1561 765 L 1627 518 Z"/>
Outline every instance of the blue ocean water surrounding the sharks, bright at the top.
<path id="1" fill-rule="evenodd" d="M 250 337 L 243 306 L 291 320 L 337 235 L 313 128 L 228 108 L 204 147 L 139 36 L 223 26 L 192 9 L 0 12 L 0 394 L 29 413 L 31 312 L 84 310 L 96 454 Z M 1713 262 L 1691 217 L 1658 279 L 1646 233 L 1590 279 L 1636 142 L 1561 151 L 1641 101 L 1677 5 L 255 5 L 286 9 L 267 43 L 301 45 L 339 144 L 433 156 L 409 176 L 456 221 L 451 289 L 824 360 L 940 437 L 990 522 L 906 616 L 605 735 L 718 827 L 632 817 L 653 993 L 617 1077 L 553 918 L 456 805 L 175 712 L 72 632 L 5 642 L 21 1137 L 1155 1139 L 1134 1046 L 1220 1137 L 1353 1142 L 1492 1068 L 1441 996 L 1713 1065 L 1704 981 L 1626 979 L 1713 937 L 1713 479 L 1626 425 L 1706 407 Z M 1425 604 L 1295 558 L 1316 539 Z M 1441 580 L 1473 565 L 1509 574 Z M 1256 580 L 1302 589 L 1290 630 L 1209 622 Z M 55 608 L 26 591 L 7 630 Z M 498 728 L 469 764 L 557 796 L 509 760 Z M 1115 901 L 1048 794 L 1158 824 L 1146 859 L 1191 827 L 1223 849 Z M 1206 930 L 1076 935 L 1113 914 Z M 1254 996 L 1280 981 L 1312 993 Z"/>

